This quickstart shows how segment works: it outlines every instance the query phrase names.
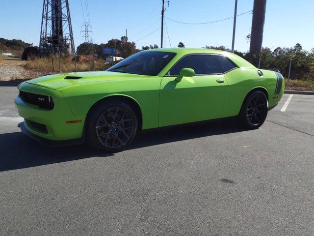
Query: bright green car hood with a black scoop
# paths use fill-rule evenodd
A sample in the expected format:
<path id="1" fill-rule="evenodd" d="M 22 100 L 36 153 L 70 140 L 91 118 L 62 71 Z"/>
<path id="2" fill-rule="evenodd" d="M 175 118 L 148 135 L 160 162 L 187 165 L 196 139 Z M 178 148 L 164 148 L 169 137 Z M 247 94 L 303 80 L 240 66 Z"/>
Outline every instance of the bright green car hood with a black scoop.
<path id="1" fill-rule="evenodd" d="M 28 80 L 26 83 L 43 86 L 50 89 L 60 89 L 65 86 L 72 86 L 84 83 L 129 80 L 146 77 L 145 75 L 135 75 L 110 71 L 73 72 L 53 74 Z"/>

